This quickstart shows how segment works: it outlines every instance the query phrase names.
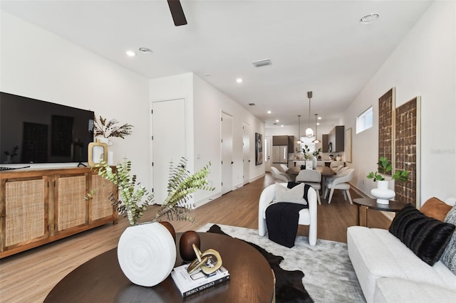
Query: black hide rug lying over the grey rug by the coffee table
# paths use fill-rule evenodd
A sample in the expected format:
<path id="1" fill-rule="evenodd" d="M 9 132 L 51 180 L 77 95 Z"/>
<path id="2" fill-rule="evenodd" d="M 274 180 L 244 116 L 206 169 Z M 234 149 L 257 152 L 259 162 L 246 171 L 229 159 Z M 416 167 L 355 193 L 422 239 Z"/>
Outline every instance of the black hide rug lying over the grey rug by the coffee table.
<path id="1" fill-rule="evenodd" d="M 207 230 L 207 232 L 227 235 L 220 229 L 219 225 L 212 225 L 211 228 Z M 276 303 L 314 302 L 314 300 L 310 297 L 309 293 L 304 288 L 304 285 L 302 285 L 302 278 L 304 277 L 304 273 L 301 272 L 301 270 L 283 270 L 279 264 L 282 260 L 284 260 L 284 257 L 273 255 L 270 252 L 264 250 L 264 248 L 261 248 L 253 243 L 249 243 L 247 241 L 244 242 L 252 245 L 253 248 L 258 250 L 261 255 L 263 255 L 269 262 L 271 269 L 274 270 L 274 275 L 276 276 Z"/>

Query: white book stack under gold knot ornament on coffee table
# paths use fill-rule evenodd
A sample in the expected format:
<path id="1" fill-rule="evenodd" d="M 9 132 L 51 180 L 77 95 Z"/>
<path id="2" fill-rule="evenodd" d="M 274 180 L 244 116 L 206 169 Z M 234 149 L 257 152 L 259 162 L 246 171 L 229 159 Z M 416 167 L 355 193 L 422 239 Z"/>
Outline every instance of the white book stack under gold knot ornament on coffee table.
<path id="1" fill-rule="evenodd" d="M 204 289 L 229 281 L 229 272 L 223 266 L 210 275 L 204 274 L 200 268 L 189 274 L 187 267 L 188 264 L 181 265 L 175 267 L 171 272 L 172 280 L 174 280 L 175 285 L 180 290 L 182 297 L 202 292 Z"/>

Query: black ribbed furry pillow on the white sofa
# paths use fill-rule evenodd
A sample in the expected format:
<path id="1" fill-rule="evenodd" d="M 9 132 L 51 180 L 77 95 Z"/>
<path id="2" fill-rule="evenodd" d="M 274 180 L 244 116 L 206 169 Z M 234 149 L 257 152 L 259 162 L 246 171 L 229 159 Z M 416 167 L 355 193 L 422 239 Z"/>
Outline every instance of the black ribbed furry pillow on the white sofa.
<path id="1" fill-rule="evenodd" d="M 391 222 L 389 231 L 421 260 L 434 265 L 450 242 L 455 225 L 429 218 L 410 204 Z"/>

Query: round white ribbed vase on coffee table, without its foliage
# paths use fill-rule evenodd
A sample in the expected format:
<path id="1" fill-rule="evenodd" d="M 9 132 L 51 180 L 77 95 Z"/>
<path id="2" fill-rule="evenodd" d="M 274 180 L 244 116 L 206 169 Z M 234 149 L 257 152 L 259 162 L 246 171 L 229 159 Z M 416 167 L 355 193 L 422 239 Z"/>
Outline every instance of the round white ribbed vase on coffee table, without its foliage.
<path id="1" fill-rule="evenodd" d="M 170 275 L 176 262 L 176 246 L 161 223 L 130 226 L 119 239 L 120 268 L 135 285 L 151 287 Z"/>

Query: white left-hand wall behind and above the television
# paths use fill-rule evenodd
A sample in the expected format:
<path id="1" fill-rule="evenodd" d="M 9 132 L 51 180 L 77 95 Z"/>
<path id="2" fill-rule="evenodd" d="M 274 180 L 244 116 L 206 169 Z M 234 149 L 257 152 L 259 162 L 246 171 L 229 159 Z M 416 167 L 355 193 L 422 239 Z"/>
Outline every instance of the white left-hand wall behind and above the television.
<path id="1" fill-rule="evenodd" d="M 128 156 L 138 180 L 148 182 L 143 164 L 149 151 L 139 148 L 148 138 L 147 80 L 11 14 L 0 14 L 0 90 L 133 124 L 133 134 L 113 138 L 110 150 L 115 163 Z"/>

